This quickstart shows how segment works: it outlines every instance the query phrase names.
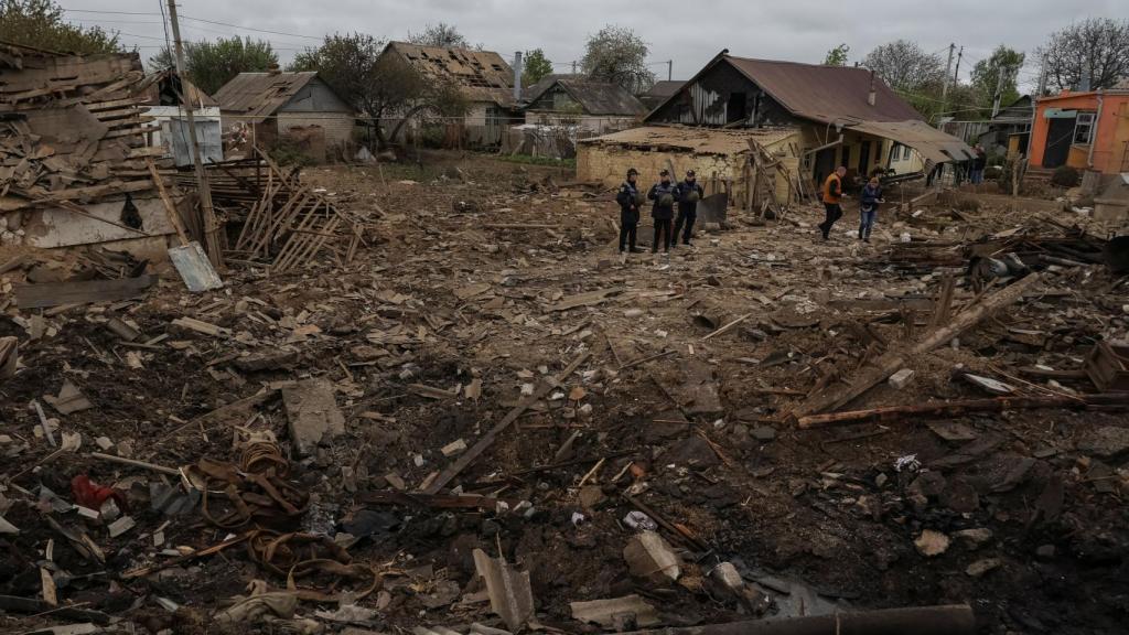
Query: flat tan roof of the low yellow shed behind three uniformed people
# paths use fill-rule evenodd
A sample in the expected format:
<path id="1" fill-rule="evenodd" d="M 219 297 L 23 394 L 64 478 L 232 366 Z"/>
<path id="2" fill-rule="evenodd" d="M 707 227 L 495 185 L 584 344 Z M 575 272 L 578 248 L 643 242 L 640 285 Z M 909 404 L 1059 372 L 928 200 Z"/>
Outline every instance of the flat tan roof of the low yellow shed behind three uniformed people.
<path id="1" fill-rule="evenodd" d="M 769 147 L 798 134 L 799 131 L 795 128 L 717 130 L 681 125 L 645 125 L 583 139 L 578 143 L 634 148 L 654 147 L 707 155 L 736 155 L 749 151 L 750 139 L 755 139 L 762 146 Z"/>

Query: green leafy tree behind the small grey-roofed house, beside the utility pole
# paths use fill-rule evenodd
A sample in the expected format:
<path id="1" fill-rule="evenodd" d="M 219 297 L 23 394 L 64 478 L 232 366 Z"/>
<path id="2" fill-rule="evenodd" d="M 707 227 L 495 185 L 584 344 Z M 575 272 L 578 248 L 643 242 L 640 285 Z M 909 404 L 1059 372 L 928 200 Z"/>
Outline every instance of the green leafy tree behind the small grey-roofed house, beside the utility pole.
<path id="1" fill-rule="evenodd" d="M 279 56 L 270 42 L 261 40 L 220 37 L 216 42 L 186 43 L 184 45 L 184 73 L 198 88 L 211 95 L 240 72 L 263 72 L 277 67 Z M 175 66 L 168 47 L 149 60 L 151 70 Z"/>

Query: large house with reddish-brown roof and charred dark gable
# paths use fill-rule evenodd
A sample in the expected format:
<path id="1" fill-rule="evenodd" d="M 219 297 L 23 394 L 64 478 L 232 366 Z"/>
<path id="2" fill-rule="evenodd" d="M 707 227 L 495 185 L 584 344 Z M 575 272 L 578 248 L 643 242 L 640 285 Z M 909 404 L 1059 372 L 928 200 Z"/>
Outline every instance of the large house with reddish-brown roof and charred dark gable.
<path id="1" fill-rule="evenodd" d="M 839 165 L 851 175 L 879 169 L 901 175 L 972 157 L 968 145 L 928 125 L 868 70 L 738 58 L 728 51 L 656 106 L 645 123 L 794 128 L 799 132 L 796 179 L 809 188 Z"/>

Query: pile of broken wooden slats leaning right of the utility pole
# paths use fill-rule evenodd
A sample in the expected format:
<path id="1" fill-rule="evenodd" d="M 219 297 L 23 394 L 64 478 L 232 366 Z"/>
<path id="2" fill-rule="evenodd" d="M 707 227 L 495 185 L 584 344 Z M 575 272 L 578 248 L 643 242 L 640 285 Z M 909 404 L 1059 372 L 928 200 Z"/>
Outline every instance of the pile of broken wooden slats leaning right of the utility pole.
<path id="1" fill-rule="evenodd" d="M 352 260 L 360 242 L 359 219 L 347 217 L 265 153 L 255 149 L 250 159 L 212 164 L 209 177 L 215 205 L 230 218 L 243 219 L 228 254 L 273 272 L 300 268 L 323 251 L 339 262 Z"/>

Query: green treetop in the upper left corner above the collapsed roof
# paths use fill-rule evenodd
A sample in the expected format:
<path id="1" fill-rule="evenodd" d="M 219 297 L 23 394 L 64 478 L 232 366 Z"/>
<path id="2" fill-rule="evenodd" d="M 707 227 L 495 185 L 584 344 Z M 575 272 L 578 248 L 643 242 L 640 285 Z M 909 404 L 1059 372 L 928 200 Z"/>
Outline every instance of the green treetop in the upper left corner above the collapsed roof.
<path id="1" fill-rule="evenodd" d="M 0 0 L 0 40 L 63 53 L 117 53 L 116 33 L 63 21 L 53 0 Z"/>

